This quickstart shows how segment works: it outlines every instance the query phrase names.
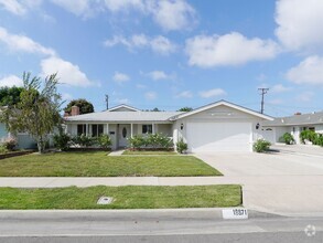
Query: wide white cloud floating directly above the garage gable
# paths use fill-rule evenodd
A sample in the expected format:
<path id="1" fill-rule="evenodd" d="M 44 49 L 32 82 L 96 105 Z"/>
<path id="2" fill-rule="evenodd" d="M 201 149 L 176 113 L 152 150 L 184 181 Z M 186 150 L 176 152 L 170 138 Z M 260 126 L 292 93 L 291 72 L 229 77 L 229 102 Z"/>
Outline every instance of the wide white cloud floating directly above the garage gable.
<path id="1" fill-rule="evenodd" d="M 247 39 L 240 33 L 197 35 L 186 40 L 189 64 L 201 67 L 240 65 L 273 59 L 278 44 L 271 40 Z"/>

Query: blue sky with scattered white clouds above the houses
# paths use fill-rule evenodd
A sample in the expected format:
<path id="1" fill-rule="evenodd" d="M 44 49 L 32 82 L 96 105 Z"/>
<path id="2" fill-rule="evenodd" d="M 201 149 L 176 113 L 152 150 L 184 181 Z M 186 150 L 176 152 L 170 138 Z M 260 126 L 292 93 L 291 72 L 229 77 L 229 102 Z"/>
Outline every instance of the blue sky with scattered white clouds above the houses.
<path id="1" fill-rule="evenodd" d="M 0 0 L 0 86 L 57 73 L 67 105 L 176 110 L 226 99 L 323 108 L 322 0 Z"/>

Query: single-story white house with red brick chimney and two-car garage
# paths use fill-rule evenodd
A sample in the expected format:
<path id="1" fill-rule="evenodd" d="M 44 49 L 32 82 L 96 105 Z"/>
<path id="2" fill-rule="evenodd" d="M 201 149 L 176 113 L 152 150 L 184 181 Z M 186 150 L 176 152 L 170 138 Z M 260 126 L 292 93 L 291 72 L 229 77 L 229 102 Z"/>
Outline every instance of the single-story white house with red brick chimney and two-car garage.
<path id="1" fill-rule="evenodd" d="M 108 134 L 112 149 L 128 146 L 134 135 L 162 133 L 176 142 L 181 138 L 190 152 L 252 151 L 252 142 L 261 137 L 261 125 L 273 118 L 251 109 L 219 101 L 192 112 L 142 112 L 120 105 L 105 112 L 65 117 L 72 136 Z"/>

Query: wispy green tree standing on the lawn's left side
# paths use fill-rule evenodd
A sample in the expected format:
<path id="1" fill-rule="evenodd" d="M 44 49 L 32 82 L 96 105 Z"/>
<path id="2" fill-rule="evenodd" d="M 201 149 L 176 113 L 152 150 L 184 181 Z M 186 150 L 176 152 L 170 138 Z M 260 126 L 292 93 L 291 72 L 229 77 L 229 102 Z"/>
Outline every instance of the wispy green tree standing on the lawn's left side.
<path id="1" fill-rule="evenodd" d="M 9 131 L 29 133 L 36 140 L 40 154 L 45 150 L 49 134 L 62 123 L 61 95 L 57 93 L 56 85 L 56 74 L 41 82 L 40 77 L 31 78 L 30 73 L 23 73 L 23 91 L 17 109 L 9 107 L 1 116 Z"/>

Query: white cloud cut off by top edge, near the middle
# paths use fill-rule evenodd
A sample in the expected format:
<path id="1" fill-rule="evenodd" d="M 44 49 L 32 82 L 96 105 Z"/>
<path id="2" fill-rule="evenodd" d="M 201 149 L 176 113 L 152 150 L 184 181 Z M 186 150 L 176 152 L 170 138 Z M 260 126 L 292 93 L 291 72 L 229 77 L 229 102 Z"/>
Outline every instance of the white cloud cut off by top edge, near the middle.
<path id="1" fill-rule="evenodd" d="M 148 10 L 165 31 L 190 29 L 196 23 L 195 10 L 184 0 L 148 1 Z"/>

